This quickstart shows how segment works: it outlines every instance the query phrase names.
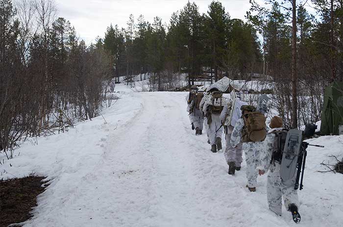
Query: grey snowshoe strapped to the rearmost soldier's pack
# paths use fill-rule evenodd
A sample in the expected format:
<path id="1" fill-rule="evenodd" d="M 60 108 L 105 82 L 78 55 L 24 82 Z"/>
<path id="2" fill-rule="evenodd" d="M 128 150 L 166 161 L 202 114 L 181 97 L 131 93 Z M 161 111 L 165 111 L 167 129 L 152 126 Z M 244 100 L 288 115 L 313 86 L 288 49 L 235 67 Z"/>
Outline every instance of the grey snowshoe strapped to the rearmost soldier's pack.
<path id="1" fill-rule="evenodd" d="M 302 132 L 298 129 L 291 129 L 287 133 L 281 168 L 280 177 L 286 186 L 294 186 L 297 174 L 297 163 L 302 143 Z"/>

